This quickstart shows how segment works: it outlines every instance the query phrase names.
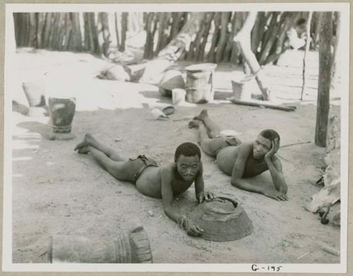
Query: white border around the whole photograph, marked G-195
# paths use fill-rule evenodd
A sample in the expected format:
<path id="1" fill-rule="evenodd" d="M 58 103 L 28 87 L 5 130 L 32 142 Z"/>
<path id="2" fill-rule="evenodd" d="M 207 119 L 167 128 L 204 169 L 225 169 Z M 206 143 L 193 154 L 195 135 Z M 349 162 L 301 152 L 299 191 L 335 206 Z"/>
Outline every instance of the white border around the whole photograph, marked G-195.
<path id="1" fill-rule="evenodd" d="M 256 268 L 280 267 L 279 272 L 347 272 L 347 205 L 349 145 L 349 59 L 342 60 L 341 97 L 341 227 L 339 264 L 20 264 L 12 263 L 12 148 L 11 95 L 6 91 L 11 76 L 9 24 L 13 12 L 74 12 L 74 11 L 339 11 L 342 22 L 342 52 L 349 56 L 349 3 L 237 3 L 237 4 L 5 4 L 5 65 L 4 65 L 4 213 L 2 270 L 12 272 L 253 272 Z M 11 29 L 12 28 L 12 29 Z M 342 53 L 341 53 L 342 54 Z M 258 270 L 258 272 L 275 272 Z"/>

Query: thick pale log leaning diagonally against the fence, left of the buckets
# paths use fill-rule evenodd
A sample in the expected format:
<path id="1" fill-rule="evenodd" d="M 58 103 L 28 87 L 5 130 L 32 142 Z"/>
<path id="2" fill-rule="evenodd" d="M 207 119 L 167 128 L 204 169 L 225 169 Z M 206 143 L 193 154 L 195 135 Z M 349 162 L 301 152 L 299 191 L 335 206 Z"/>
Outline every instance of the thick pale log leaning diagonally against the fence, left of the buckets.
<path id="1" fill-rule="evenodd" d="M 140 83 L 152 80 L 179 59 L 184 49 L 189 47 L 193 34 L 198 31 L 202 16 L 202 13 L 190 13 L 190 18 L 179 34 L 160 51 L 155 59 L 146 64 L 145 72 L 139 80 Z"/>

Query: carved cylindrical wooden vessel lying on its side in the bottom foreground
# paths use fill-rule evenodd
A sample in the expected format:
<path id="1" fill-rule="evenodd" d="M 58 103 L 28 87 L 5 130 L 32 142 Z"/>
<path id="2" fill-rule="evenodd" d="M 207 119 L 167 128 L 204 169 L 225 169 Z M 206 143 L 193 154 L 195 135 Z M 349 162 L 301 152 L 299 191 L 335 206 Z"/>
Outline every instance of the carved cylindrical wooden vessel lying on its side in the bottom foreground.
<path id="1" fill-rule="evenodd" d="M 52 236 L 47 263 L 152 263 L 148 236 L 143 227 L 114 238 Z"/>

